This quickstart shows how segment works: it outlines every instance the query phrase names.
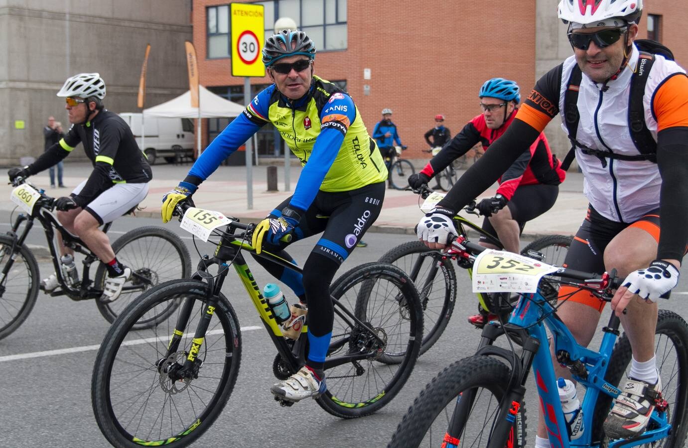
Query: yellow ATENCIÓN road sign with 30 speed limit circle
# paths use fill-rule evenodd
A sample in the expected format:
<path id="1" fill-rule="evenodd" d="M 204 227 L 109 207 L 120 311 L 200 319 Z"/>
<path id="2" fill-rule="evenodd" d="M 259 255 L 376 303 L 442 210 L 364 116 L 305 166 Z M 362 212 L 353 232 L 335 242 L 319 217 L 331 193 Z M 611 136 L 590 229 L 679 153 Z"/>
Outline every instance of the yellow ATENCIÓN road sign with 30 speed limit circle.
<path id="1" fill-rule="evenodd" d="M 232 76 L 265 76 L 261 50 L 265 41 L 264 6 L 230 3 Z"/>

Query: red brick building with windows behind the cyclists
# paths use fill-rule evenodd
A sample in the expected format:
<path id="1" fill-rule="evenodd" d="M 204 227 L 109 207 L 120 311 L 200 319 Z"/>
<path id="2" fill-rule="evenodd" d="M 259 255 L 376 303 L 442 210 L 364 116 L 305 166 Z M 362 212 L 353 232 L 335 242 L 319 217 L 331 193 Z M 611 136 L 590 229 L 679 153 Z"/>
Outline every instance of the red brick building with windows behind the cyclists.
<path id="1" fill-rule="evenodd" d="M 488 78 L 513 79 L 527 94 L 536 74 L 571 54 L 554 0 L 256 3 L 266 5 L 266 33 L 279 16 L 292 17 L 299 29 L 308 32 L 318 49 L 315 74 L 345 83 L 370 133 L 383 108 L 394 111 L 392 119 L 402 142 L 409 146 L 405 153 L 409 159 L 428 158 L 421 152 L 427 146 L 422 136 L 434 126 L 436 114 L 445 115 L 445 125 L 454 135 L 480 113 L 477 92 Z M 226 5 L 226 0 L 193 1 L 193 42 L 200 82 L 230 100 L 243 102 L 244 78 L 231 76 L 230 58 L 222 56 L 230 45 L 224 34 L 228 39 L 231 36 Z M 688 29 L 682 23 L 682 10 L 669 0 L 645 1 L 640 37 L 647 36 L 647 14 L 654 14 L 655 36 L 688 67 Z M 326 42 L 320 43 L 319 38 Z M 364 79 L 365 69 L 369 69 L 369 79 Z M 255 91 L 269 82 L 267 77 L 251 80 Z M 210 121 L 211 137 L 227 122 Z M 548 134 L 559 132 L 557 126 L 550 126 Z M 270 135 L 267 129 L 259 137 L 259 155 L 272 155 Z M 550 139 L 561 140 L 553 146 L 557 153 L 566 153 L 565 139 L 557 140 L 554 135 Z M 207 141 L 204 132 L 204 146 Z"/>

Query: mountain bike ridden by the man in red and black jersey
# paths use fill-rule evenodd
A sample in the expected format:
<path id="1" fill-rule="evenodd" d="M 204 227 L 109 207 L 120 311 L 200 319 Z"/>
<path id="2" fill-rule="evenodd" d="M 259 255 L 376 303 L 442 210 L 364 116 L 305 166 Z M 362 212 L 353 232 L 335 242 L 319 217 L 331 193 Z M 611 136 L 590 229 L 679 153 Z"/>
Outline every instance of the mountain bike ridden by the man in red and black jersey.
<path id="1" fill-rule="evenodd" d="M 428 199 L 433 194 L 433 191 L 427 188 L 427 186 L 414 192 L 420 194 L 422 199 Z M 434 197 L 436 198 L 434 199 L 435 203 L 442 198 L 441 196 Z M 433 197 L 430 197 L 429 201 L 433 202 Z M 431 203 L 426 203 L 422 205 L 422 209 L 429 210 L 432 206 Z M 477 210 L 475 210 L 475 201 L 466 206 L 464 210 L 480 216 Z M 454 226 L 457 235 L 466 236 L 466 230 L 472 229 L 477 234 L 484 236 L 488 243 L 500 248 L 504 247 L 497 236 L 486 232 L 482 227 L 463 216 L 458 214 L 454 216 Z M 528 244 L 521 253 L 526 256 L 528 254 L 537 254 L 538 257 L 550 265 L 561 265 L 564 258 L 566 258 L 572 240 L 572 236 L 544 236 Z M 447 328 L 449 318 L 454 311 L 458 285 L 452 261 L 455 261 L 459 267 L 466 269 L 469 276 L 472 273 L 472 266 L 466 265 L 464 260 L 448 257 L 442 251 L 429 249 L 419 240 L 402 243 L 389 249 L 378 261 L 400 267 L 402 271 L 409 274 L 411 280 L 418 287 L 420 302 L 423 306 L 424 322 L 423 344 L 420 348 L 420 354 L 422 355 L 440 338 L 444 328 Z M 503 303 L 503 295 L 477 293 L 477 298 L 480 302 L 478 310 L 484 315 L 487 315 L 490 311 L 497 314 L 498 307 L 502 308 L 501 314 L 503 315 L 510 312 L 511 304 Z M 516 298 L 513 299 L 515 300 Z"/>

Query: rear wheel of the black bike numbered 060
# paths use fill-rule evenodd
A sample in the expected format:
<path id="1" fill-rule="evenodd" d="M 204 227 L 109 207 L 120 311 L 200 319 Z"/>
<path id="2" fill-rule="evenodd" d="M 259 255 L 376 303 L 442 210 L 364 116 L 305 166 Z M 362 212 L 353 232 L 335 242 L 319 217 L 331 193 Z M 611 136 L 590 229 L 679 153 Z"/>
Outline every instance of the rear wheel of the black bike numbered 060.
<path id="1" fill-rule="evenodd" d="M 168 229 L 157 226 L 140 227 L 118 238 L 112 249 L 117 259 L 131 268 L 131 277 L 114 302 L 103 303 L 96 299 L 98 311 L 107 322 L 114 322 L 119 313 L 138 296 L 157 284 L 191 276 L 191 258 L 182 238 Z M 103 289 L 107 279 L 105 265 L 100 263 L 96 271 L 95 286 Z M 160 310 L 161 313 L 172 312 Z M 150 315 L 137 323 L 139 328 L 154 326 L 155 320 L 164 315 Z"/>

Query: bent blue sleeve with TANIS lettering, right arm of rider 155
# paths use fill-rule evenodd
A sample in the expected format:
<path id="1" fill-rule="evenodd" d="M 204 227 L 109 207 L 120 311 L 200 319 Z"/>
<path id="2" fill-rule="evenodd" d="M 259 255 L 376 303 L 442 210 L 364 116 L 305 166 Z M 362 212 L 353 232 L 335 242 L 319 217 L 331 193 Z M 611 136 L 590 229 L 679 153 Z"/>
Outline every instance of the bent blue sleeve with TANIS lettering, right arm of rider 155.
<path id="1" fill-rule="evenodd" d="M 308 210 L 355 118 L 356 107 L 351 97 L 342 92 L 334 93 L 320 113 L 321 131 L 315 139 L 308 163 L 301 171 L 301 177 L 289 205 Z"/>

